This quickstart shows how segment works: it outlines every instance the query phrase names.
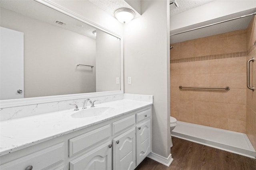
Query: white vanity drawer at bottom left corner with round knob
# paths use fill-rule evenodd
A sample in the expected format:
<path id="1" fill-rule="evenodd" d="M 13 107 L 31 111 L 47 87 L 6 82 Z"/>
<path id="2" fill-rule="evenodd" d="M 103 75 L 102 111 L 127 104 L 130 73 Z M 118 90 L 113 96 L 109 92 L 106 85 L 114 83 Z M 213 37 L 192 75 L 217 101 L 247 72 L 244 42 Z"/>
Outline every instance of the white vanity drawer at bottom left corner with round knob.
<path id="1" fill-rule="evenodd" d="M 1 170 L 25 170 L 28 166 L 33 166 L 33 170 L 60 169 L 63 163 L 64 143 L 62 142 L 2 164 Z"/>

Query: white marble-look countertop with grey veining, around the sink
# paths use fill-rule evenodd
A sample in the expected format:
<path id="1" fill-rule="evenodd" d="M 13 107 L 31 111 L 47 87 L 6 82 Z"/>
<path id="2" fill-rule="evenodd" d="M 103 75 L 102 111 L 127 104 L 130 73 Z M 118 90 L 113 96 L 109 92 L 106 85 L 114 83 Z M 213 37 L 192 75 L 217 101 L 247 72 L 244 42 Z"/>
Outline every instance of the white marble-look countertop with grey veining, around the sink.
<path id="1" fill-rule="evenodd" d="M 150 105 L 152 105 L 151 102 L 123 99 L 95 104 L 95 107 L 111 107 L 106 113 L 97 117 L 73 118 L 71 115 L 76 111 L 68 109 L 1 121 L 0 155 L 60 137 Z"/>

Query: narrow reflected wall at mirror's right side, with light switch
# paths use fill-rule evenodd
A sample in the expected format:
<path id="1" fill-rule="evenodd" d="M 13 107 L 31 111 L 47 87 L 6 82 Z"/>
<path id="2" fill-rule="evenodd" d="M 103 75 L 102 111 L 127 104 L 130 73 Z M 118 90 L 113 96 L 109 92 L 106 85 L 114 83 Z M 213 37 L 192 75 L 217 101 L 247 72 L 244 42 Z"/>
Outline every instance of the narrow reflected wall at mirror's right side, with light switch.
<path id="1" fill-rule="evenodd" d="M 96 92 L 120 89 L 120 39 L 103 31 L 96 36 Z M 119 84 L 116 84 L 119 78 Z"/>

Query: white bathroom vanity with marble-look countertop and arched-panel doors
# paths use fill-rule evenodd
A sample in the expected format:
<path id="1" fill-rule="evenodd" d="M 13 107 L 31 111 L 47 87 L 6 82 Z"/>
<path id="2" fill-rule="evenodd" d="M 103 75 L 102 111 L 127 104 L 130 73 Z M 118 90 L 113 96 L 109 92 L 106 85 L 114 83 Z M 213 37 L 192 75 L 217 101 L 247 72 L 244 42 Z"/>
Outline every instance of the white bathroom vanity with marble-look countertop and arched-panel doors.
<path id="1" fill-rule="evenodd" d="M 1 170 L 132 170 L 151 152 L 151 105 L 124 99 L 2 121 Z"/>

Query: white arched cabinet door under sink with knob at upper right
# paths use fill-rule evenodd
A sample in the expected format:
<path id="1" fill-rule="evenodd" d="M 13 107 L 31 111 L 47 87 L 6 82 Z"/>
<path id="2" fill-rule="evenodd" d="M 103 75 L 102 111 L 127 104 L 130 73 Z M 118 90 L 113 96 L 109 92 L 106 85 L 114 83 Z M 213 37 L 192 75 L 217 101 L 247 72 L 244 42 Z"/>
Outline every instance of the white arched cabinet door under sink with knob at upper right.
<path id="1" fill-rule="evenodd" d="M 70 170 L 112 170 L 112 144 L 101 145 L 70 161 Z"/>

